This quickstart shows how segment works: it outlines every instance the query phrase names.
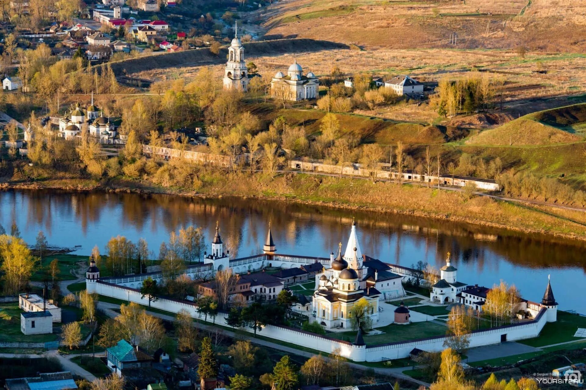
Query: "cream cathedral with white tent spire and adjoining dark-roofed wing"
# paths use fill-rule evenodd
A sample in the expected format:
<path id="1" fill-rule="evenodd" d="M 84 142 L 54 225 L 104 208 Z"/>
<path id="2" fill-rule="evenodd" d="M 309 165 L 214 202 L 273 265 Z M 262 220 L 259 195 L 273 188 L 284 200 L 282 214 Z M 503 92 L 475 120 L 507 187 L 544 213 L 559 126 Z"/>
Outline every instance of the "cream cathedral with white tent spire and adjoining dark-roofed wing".
<path id="1" fill-rule="evenodd" d="M 333 253 L 331 257 L 333 257 Z M 328 329 L 350 328 L 350 312 L 356 302 L 366 299 L 370 305 L 372 323 L 379 320 L 379 299 L 383 293 L 377 288 L 392 288 L 397 296 L 404 296 L 402 277 L 387 271 L 389 267 L 379 260 L 364 260 L 356 236 L 356 223 L 352 222 L 350 238 L 342 253 L 332 259 L 330 268 L 316 275 L 313 308 L 316 321 Z M 380 268 L 380 271 L 379 271 Z M 380 275 L 380 277 L 379 277 Z"/>

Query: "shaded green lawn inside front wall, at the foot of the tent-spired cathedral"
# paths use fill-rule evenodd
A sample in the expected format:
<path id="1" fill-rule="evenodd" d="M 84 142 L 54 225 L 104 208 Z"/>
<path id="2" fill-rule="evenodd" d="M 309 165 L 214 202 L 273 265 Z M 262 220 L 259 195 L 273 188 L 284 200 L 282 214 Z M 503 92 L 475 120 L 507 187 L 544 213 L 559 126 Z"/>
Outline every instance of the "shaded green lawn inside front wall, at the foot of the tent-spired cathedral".
<path id="1" fill-rule="evenodd" d="M 376 328 L 376 330 L 380 330 L 384 333 L 374 334 L 373 336 L 368 336 L 367 334 L 364 335 L 364 342 L 367 345 L 374 345 L 394 343 L 396 341 L 423 339 L 432 336 L 444 336 L 447 329 L 447 327 L 431 321 L 414 322 L 409 325 L 391 324 Z M 328 337 L 354 341 L 356 339 L 356 332 L 331 333 L 328 334 Z"/>

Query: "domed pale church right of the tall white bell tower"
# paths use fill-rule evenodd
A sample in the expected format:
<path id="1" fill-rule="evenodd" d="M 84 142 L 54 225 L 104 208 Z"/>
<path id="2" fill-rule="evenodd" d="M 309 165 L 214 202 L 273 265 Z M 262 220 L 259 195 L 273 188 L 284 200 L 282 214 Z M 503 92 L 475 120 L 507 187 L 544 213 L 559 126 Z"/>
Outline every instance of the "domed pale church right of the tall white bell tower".
<path id="1" fill-rule="evenodd" d="M 271 95 L 274 98 L 298 102 L 315 99 L 319 93 L 319 80 L 314 73 L 303 74 L 297 60 L 289 67 L 287 75 L 278 72 L 271 80 Z"/>

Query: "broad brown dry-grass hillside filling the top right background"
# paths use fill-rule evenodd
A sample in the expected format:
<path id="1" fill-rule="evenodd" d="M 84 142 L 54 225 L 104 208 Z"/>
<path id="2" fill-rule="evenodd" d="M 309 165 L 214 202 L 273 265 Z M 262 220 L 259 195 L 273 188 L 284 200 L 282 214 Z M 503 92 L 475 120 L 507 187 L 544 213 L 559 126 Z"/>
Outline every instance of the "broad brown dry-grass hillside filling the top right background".
<path id="1" fill-rule="evenodd" d="M 523 44 L 530 51 L 575 52 L 586 46 L 586 0 L 290 0 L 260 18 L 270 39 L 319 37 L 366 49 Z M 456 44 L 449 43 L 451 33 Z"/>

